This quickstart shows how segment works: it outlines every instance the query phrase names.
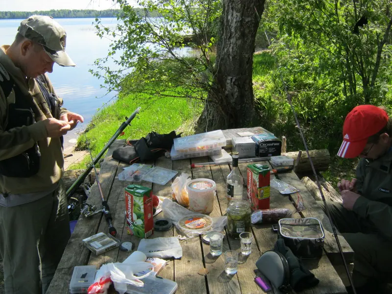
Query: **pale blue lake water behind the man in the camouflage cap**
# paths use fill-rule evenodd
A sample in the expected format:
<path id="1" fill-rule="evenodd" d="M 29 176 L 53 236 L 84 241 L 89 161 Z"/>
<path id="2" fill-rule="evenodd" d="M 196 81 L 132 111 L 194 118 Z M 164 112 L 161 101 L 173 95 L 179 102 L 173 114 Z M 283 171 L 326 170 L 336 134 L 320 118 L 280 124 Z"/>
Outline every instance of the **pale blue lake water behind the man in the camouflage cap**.
<path id="1" fill-rule="evenodd" d="M 0 20 L 1 45 L 10 45 L 17 33 L 22 20 Z M 101 89 L 102 80 L 89 73 L 96 69 L 94 61 L 106 56 L 110 40 L 100 39 L 96 35 L 93 18 L 86 19 L 56 19 L 67 32 L 67 52 L 76 63 L 76 67 L 61 67 L 54 64 L 53 73 L 49 78 L 53 83 L 56 94 L 63 98 L 64 107 L 82 115 L 85 123 L 79 125 L 65 138 L 66 147 L 73 145 L 75 133 L 85 127 L 99 107 L 106 103 L 116 93 L 106 95 L 106 89 Z M 114 27 L 116 18 L 104 18 L 102 24 Z M 114 66 L 114 64 L 112 64 Z M 71 141 L 71 142 L 70 142 Z"/>

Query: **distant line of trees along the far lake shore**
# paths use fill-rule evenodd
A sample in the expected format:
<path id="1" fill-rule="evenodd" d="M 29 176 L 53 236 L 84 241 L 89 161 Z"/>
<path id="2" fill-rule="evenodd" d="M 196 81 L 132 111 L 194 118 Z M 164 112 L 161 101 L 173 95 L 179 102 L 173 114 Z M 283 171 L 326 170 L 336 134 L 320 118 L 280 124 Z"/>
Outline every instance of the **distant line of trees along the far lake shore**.
<path id="1" fill-rule="evenodd" d="M 133 8 L 137 15 L 145 15 L 142 8 Z M 93 10 L 93 9 L 60 9 L 60 10 L 45 10 L 45 11 L 0 11 L 0 19 L 26 19 L 30 15 L 49 15 L 53 18 L 104 18 L 104 17 L 117 17 L 122 15 L 121 9 L 106 9 L 106 10 Z M 156 12 L 148 12 L 149 17 L 160 16 Z"/>

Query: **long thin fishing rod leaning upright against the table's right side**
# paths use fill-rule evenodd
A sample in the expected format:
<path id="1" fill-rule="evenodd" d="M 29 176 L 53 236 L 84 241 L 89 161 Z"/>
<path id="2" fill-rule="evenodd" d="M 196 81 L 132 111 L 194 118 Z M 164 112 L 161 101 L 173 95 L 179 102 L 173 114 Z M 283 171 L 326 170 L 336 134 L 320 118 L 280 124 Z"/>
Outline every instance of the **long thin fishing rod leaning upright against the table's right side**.
<path id="1" fill-rule="evenodd" d="M 345 269 L 345 271 L 346 271 L 346 274 L 347 274 L 348 280 L 349 280 L 349 282 L 350 282 L 350 285 L 351 285 L 351 288 L 352 288 L 353 293 L 354 293 L 354 294 L 357 294 L 357 292 L 356 292 L 356 290 L 355 290 L 355 287 L 354 287 L 354 283 L 353 283 L 353 281 L 352 281 L 352 277 L 351 277 L 350 271 L 348 270 L 347 263 L 346 263 L 346 260 L 345 260 L 345 258 L 344 258 L 343 249 L 342 249 L 342 246 L 341 246 L 340 241 L 339 241 L 339 238 L 338 238 L 338 233 L 337 233 L 336 228 L 335 228 L 335 225 L 334 225 L 334 223 L 333 223 L 333 221 L 332 221 L 331 213 L 330 213 L 330 211 L 329 211 L 329 207 L 328 207 L 328 205 L 327 205 L 327 202 L 326 202 L 326 200 L 325 200 L 324 194 L 323 194 L 322 189 L 321 189 L 321 185 L 320 185 L 320 182 L 319 182 L 319 177 L 317 176 L 315 166 L 313 165 L 312 157 L 311 157 L 310 154 L 309 154 L 308 145 L 306 144 L 305 137 L 304 137 L 304 135 L 303 135 L 303 133 L 302 133 L 301 126 L 300 126 L 300 124 L 299 124 L 299 122 L 298 122 L 298 118 L 297 118 L 296 112 L 295 112 L 295 110 L 294 110 L 294 106 L 293 106 L 293 103 L 292 103 L 291 95 L 289 94 L 289 91 L 287 90 L 286 83 L 285 83 L 285 81 L 284 81 L 283 76 L 282 76 L 281 73 L 280 73 L 280 77 L 281 77 L 281 79 L 282 79 L 283 87 L 284 87 L 284 89 L 285 89 L 285 91 L 286 91 L 287 100 L 289 101 L 291 110 L 292 110 L 293 115 L 294 115 L 295 123 L 297 124 L 298 130 L 299 130 L 299 134 L 300 134 L 300 136 L 301 136 L 303 145 L 304 145 L 304 147 L 305 147 L 306 154 L 308 155 L 309 162 L 310 162 L 310 166 L 312 167 L 313 174 L 314 174 L 314 176 L 315 176 L 315 178 L 316 178 L 316 182 L 317 182 L 317 186 L 318 186 L 319 191 L 320 191 L 320 195 L 321 195 L 321 198 L 322 198 L 322 202 L 324 203 L 325 212 L 326 212 L 326 214 L 327 214 L 327 217 L 328 217 L 329 222 L 331 223 L 333 236 L 335 237 L 336 243 L 337 243 L 338 248 L 339 248 L 339 252 L 340 252 L 341 257 L 342 257 L 342 260 L 343 260 L 344 269 Z"/>

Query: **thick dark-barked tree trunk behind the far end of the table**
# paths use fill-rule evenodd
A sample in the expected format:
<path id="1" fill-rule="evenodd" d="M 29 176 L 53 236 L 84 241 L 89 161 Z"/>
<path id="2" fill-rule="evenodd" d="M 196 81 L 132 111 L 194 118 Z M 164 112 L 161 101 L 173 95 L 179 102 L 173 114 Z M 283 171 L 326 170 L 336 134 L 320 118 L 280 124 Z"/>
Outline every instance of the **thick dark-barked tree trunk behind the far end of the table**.
<path id="1" fill-rule="evenodd" d="M 224 0 L 214 80 L 198 127 L 250 126 L 255 118 L 253 53 L 265 0 Z"/>

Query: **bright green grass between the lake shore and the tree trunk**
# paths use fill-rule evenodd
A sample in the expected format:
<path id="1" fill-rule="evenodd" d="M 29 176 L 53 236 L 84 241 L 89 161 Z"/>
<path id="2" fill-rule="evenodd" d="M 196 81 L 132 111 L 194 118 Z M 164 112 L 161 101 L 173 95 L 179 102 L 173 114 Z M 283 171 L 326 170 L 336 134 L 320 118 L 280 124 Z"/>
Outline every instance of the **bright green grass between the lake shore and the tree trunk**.
<path id="1" fill-rule="evenodd" d="M 181 92 L 181 89 L 177 89 Z M 161 98 L 141 94 L 130 94 L 119 98 L 112 104 L 100 110 L 87 127 L 87 138 L 93 157 L 106 145 L 119 126 L 129 117 L 137 107 L 141 107 L 140 113 L 131 124 L 125 128 L 124 135 L 118 139 L 140 139 L 149 132 L 155 131 L 160 134 L 170 133 L 176 130 L 189 135 L 194 132 L 194 123 L 202 110 L 202 104 L 189 101 L 185 98 Z M 85 136 L 79 136 L 76 148 L 85 148 Z M 74 164 L 70 169 L 85 169 L 89 163 L 89 157 Z"/>

